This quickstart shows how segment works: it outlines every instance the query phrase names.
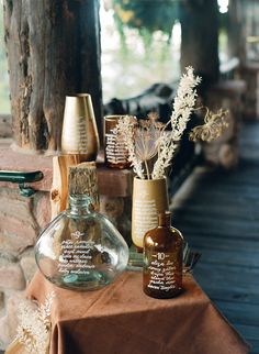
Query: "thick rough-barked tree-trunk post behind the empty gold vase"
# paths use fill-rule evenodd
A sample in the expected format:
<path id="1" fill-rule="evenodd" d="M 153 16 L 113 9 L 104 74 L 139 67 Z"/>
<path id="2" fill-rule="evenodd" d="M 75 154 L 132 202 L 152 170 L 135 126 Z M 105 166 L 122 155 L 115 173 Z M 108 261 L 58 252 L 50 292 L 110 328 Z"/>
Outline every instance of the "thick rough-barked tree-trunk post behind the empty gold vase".
<path id="1" fill-rule="evenodd" d="M 65 96 L 90 93 L 101 121 L 99 1 L 3 3 L 15 143 L 56 151 Z"/>

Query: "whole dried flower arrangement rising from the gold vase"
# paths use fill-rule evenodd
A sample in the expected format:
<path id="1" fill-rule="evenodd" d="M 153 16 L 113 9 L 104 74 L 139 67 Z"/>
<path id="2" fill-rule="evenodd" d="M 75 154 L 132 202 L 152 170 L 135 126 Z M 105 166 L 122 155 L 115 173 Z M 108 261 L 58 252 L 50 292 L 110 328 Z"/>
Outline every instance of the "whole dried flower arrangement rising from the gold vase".
<path id="1" fill-rule="evenodd" d="M 187 73 L 182 75 L 177 90 L 170 120 L 166 124 L 158 122 L 156 114 L 149 114 L 148 120 L 137 121 L 131 115 L 119 120 L 113 133 L 123 139 L 128 151 L 128 161 L 138 178 L 165 177 L 191 113 L 196 110 L 194 108 L 198 96 L 195 87 L 200 82 L 201 78 L 194 76 L 193 68 L 187 67 Z M 204 124 L 194 128 L 190 133 L 192 141 L 210 142 L 218 137 L 227 126 L 226 111 L 219 110 L 213 113 L 206 110 Z M 150 168 L 150 162 L 154 158 L 155 163 Z"/>

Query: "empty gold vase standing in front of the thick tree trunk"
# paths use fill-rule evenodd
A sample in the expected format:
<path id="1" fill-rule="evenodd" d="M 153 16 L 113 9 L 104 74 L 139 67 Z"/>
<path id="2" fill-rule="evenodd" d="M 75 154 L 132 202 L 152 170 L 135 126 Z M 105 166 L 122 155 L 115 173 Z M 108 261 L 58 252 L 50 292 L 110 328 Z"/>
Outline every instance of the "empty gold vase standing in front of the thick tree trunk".
<path id="1" fill-rule="evenodd" d="M 91 96 L 67 96 L 65 103 L 61 152 L 80 154 L 81 161 L 94 161 L 100 147 Z"/>

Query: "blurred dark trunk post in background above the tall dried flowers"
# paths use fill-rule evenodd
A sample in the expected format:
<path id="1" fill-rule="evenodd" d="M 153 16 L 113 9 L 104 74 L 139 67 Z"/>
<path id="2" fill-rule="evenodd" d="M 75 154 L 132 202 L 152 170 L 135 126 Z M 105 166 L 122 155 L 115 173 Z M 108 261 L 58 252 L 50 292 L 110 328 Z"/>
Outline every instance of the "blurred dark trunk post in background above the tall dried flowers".
<path id="1" fill-rule="evenodd" d="M 181 69 L 191 65 L 203 77 L 203 85 L 217 80 L 218 20 L 216 0 L 181 0 Z"/>

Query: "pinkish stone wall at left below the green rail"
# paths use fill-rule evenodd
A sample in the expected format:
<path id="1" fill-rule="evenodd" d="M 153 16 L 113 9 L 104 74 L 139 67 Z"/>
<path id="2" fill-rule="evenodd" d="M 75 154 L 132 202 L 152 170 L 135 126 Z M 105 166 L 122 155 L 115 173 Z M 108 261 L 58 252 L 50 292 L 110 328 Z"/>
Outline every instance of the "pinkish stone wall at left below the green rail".
<path id="1" fill-rule="evenodd" d="M 16 311 L 36 272 L 34 244 L 50 219 L 49 192 L 31 198 L 0 188 L 0 344 L 15 335 Z"/>

